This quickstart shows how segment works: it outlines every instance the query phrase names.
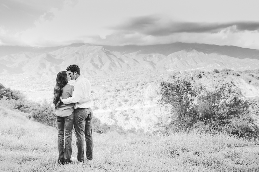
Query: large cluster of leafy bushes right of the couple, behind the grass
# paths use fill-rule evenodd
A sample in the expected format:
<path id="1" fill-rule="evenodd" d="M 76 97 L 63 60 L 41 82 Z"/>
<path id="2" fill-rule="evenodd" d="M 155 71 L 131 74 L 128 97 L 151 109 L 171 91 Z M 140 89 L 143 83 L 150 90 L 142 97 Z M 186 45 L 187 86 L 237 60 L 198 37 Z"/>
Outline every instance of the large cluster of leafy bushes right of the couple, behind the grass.
<path id="1" fill-rule="evenodd" d="M 257 136 L 259 130 L 251 107 L 254 102 L 242 97 L 232 82 L 217 83 L 208 89 L 189 75 L 163 81 L 160 104 L 168 106 L 171 114 L 160 119 L 160 131 L 167 134 L 199 128 L 241 137 Z"/>

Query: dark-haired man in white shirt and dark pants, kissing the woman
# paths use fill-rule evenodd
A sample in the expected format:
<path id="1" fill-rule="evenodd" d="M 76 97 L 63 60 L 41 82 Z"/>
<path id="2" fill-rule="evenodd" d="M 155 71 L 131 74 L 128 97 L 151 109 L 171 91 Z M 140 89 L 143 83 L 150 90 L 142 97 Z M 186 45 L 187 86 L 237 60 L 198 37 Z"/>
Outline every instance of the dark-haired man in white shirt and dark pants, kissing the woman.
<path id="1" fill-rule="evenodd" d="M 93 138 L 92 138 L 92 117 L 93 106 L 91 101 L 84 104 L 78 104 L 80 99 L 88 99 L 91 97 L 91 84 L 81 76 L 80 68 L 77 65 L 67 67 L 67 72 L 71 80 L 75 80 L 74 92 L 72 97 L 60 100 L 64 104 L 75 103 L 74 110 L 74 127 L 76 135 L 77 158 L 72 157 L 71 162 L 82 164 L 84 162 L 84 136 L 86 142 L 86 159 L 88 162 L 93 159 Z"/>

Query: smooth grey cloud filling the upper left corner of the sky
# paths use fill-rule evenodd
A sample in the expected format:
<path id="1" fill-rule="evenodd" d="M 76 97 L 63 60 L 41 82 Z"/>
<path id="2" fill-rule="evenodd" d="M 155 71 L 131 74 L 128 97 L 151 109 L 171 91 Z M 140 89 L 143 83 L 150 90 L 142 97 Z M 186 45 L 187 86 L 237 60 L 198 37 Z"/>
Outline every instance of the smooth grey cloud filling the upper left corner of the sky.
<path id="1" fill-rule="evenodd" d="M 51 9 L 62 9 L 64 4 L 74 6 L 78 0 L 2 0 L 0 4 L 0 26 L 18 32 L 34 27 L 39 18 L 54 18 Z M 43 18 L 42 18 L 43 17 Z"/>

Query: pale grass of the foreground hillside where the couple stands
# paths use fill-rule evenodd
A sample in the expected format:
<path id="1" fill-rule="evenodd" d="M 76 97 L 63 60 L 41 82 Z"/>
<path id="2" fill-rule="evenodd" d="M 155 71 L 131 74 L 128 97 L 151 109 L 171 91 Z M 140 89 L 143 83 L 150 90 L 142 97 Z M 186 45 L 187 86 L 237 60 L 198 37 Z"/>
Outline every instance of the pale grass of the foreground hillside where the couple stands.
<path id="1" fill-rule="evenodd" d="M 6 108 L 0 118 L 0 171 L 259 171 L 258 142 L 197 133 L 94 133 L 92 164 L 59 165 L 56 129 Z"/>

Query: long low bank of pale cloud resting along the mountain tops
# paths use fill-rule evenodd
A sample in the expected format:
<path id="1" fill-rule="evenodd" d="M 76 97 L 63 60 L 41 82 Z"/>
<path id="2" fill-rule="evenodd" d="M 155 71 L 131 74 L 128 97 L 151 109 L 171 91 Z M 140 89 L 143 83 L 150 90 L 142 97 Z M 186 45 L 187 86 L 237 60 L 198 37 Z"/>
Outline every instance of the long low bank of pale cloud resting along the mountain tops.
<path id="1" fill-rule="evenodd" d="M 20 34 L 8 34 L 0 27 L 0 45 L 21 45 L 21 46 L 59 46 L 72 43 L 89 43 L 96 45 L 154 45 L 170 44 L 174 42 L 184 43 L 205 43 L 216 45 L 234 45 L 243 48 L 259 49 L 259 33 L 245 30 L 233 32 L 236 27 L 228 27 L 218 33 L 173 33 L 166 36 L 144 35 L 141 33 L 113 33 L 101 37 L 99 35 L 80 35 L 77 37 L 46 38 L 37 36 L 31 40 L 24 40 Z M 2 36 L 1 34 L 5 35 Z"/>

